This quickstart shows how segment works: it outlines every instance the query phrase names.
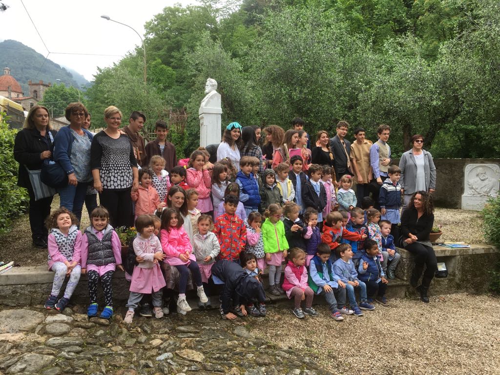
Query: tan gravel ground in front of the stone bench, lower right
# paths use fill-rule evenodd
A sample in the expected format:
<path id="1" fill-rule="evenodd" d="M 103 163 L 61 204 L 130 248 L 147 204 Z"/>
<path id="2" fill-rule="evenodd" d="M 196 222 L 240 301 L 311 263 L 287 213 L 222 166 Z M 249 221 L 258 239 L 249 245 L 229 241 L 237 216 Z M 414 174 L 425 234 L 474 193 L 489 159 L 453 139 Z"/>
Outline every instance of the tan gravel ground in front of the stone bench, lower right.
<path id="1" fill-rule="evenodd" d="M 430 299 L 428 304 L 391 300 L 387 307 L 377 304 L 364 316 L 341 322 L 333 321 L 324 305 L 320 316 L 302 320 L 281 308 L 269 319 L 250 323 L 249 331 L 309 352 L 319 365 L 342 375 L 500 373 L 495 312 L 500 300 L 465 293 Z"/>

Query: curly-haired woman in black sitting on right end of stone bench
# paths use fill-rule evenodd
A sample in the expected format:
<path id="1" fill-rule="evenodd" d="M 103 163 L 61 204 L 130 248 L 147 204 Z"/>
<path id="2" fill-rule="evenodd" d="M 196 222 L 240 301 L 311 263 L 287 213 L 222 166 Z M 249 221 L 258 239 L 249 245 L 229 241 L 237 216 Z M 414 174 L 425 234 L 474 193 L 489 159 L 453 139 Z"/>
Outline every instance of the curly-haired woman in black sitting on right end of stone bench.
<path id="1" fill-rule="evenodd" d="M 432 196 L 426 191 L 416 191 L 401 216 L 402 246 L 414 255 L 415 260 L 409 282 L 416 287 L 423 302 L 429 301 L 427 291 L 437 269 L 436 254 L 429 240 L 430 229 L 434 224 L 433 212 Z M 422 282 L 417 286 L 424 264 Z"/>

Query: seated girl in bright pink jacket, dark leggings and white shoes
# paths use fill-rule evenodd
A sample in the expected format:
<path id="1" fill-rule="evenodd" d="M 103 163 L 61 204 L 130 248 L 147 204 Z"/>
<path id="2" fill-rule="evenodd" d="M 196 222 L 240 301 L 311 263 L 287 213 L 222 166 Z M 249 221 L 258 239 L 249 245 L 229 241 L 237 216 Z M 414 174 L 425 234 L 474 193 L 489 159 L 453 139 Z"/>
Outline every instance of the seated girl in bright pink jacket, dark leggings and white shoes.
<path id="1" fill-rule="evenodd" d="M 159 232 L 161 247 L 166 255 L 165 262 L 174 266 L 179 271 L 179 297 L 177 306 L 184 311 L 191 311 L 191 307 L 186 301 L 186 286 L 191 271 L 194 283 L 197 286 L 197 295 L 201 303 L 208 302 L 203 284 L 201 283 L 201 273 L 196 257 L 192 253 L 192 245 L 189 236 L 182 227 L 184 220 L 175 209 L 165 208 L 161 213 L 161 230 Z"/>

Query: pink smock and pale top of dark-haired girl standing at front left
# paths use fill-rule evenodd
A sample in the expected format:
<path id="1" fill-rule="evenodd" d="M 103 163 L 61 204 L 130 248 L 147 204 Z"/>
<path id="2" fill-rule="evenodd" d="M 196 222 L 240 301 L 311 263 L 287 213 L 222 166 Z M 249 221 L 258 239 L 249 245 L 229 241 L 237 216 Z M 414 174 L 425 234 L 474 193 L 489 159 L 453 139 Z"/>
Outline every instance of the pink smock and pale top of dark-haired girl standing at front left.
<path id="1" fill-rule="evenodd" d="M 139 234 L 133 240 L 133 251 L 136 256 L 141 256 L 144 261 L 133 267 L 130 291 L 136 293 L 150 294 L 158 291 L 166 285 L 159 262 L 153 263 L 155 252 L 162 252 L 158 237 L 151 234 L 149 238 L 143 238 Z"/>

